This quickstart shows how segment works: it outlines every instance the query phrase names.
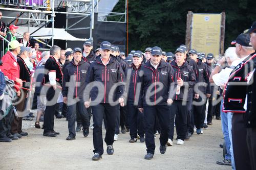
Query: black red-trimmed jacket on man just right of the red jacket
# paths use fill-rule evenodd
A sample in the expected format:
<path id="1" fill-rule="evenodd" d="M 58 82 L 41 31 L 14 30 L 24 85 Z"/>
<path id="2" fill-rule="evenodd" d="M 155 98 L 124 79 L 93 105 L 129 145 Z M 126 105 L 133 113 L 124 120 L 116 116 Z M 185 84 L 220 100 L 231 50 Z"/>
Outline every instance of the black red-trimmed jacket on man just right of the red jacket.
<path id="1" fill-rule="evenodd" d="M 31 90 L 31 74 L 29 67 L 19 56 L 17 56 L 17 63 L 19 65 L 19 78 L 22 79 L 22 88 L 25 90 Z"/>

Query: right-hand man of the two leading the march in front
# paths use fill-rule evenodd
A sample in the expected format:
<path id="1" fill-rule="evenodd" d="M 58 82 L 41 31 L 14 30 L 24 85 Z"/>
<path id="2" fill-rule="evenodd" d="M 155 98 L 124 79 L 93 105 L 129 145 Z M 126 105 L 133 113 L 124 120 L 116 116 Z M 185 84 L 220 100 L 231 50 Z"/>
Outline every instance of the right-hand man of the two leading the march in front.
<path id="1" fill-rule="evenodd" d="M 169 104 L 174 100 L 175 72 L 170 64 L 162 59 L 162 50 L 152 48 L 151 59 L 142 66 L 138 83 L 141 83 L 141 92 L 138 108 L 145 118 L 145 136 L 147 154 L 144 159 L 152 159 L 155 153 L 154 126 L 158 116 L 161 126 L 160 153 L 166 151 L 169 131 Z"/>

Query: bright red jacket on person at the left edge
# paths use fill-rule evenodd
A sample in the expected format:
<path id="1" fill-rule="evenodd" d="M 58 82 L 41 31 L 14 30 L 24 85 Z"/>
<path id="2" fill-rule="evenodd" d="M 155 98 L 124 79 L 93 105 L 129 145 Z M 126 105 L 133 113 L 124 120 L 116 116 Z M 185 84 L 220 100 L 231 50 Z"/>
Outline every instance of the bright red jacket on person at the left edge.
<path id="1" fill-rule="evenodd" d="M 0 66 L 0 69 L 4 73 L 5 76 L 7 76 L 10 80 L 13 80 L 15 82 L 15 89 L 16 91 L 19 91 L 19 83 L 17 83 L 15 80 L 16 78 L 19 79 L 19 65 L 16 61 L 16 59 L 13 57 L 11 52 L 7 52 L 3 58 L 3 65 Z"/>

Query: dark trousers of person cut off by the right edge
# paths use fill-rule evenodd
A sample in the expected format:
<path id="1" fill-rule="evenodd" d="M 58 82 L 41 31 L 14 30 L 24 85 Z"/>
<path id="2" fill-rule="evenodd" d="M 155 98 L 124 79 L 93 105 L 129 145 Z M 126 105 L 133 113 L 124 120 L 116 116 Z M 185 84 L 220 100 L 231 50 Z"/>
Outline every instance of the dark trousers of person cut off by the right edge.
<path id="1" fill-rule="evenodd" d="M 251 162 L 251 169 L 256 170 L 256 128 L 247 128 L 246 141 Z"/>

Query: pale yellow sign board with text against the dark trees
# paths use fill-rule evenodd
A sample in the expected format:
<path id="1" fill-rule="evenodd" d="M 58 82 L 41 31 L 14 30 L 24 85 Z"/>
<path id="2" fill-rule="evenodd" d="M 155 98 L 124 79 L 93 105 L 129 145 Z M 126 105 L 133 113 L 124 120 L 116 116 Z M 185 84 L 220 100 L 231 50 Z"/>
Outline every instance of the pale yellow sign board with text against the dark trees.
<path id="1" fill-rule="evenodd" d="M 220 54 L 221 14 L 193 14 L 191 49 Z"/>

